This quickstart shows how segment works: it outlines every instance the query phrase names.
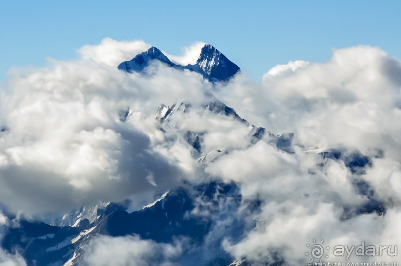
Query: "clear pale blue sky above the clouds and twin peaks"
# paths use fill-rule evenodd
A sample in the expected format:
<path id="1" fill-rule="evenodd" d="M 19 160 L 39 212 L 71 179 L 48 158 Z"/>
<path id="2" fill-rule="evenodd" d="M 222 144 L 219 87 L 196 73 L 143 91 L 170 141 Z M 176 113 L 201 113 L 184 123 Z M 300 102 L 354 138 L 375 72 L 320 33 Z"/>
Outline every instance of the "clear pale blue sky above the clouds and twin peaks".
<path id="1" fill-rule="evenodd" d="M 325 61 L 332 48 L 358 44 L 401 58 L 400 1 L 94 2 L 2 1 L 0 81 L 10 67 L 76 58 L 104 37 L 143 39 L 169 54 L 205 41 L 256 80 L 277 64 Z"/>

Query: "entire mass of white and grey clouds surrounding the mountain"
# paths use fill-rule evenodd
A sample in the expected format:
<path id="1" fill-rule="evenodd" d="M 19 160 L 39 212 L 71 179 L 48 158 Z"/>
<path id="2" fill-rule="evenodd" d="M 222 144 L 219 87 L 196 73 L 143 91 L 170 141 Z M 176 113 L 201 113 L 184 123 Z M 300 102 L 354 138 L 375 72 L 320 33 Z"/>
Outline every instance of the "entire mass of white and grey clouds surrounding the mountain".
<path id="1" fill-rule="evenodd" d="M 175 61 L 193 60 L 199 45 Z M 149 203 L 183 181 L 222 179 L 241 189 L 236 215 L 256 224 L 241 240 L 223 242 L 238 261 L 303 265 L 314 238 L 324 239 L 330 251 L 362 241 L 401 245 L 398 60 L 377 47 L 351 47 L 334 50 L 324 63 L 276 66 L 262 84 L 241 74 L 210 84 L 158 62 L 143 73 L 116 69 L 147 47 L 104 39 L 82 47 L 80 59 L 13 71 L 1 97 L 2 205 L 40 214 L 127 198 Z M 252 142 L 250 127 L 239 118 L 204 108 L 210 101 L 205 92 L 250 125 L 276 135 L 293 132 L 292 152 L 272 145 L 267 134 Z M 161 125 L 155 114 L 162 103 L 191 108 Z M 199 154 L 188 132 L 201 136 Z M 205 154 L 213 158 L 199 165 Z M 258 202 L 257 211 L 248 208 L 250 201 Z M 121 255 L 121 265 L 147 265 L 148 255 L 171 265 L 185 248 L 100 237 L 88 246 L 86 263 L 107 265 L 107 256 L 98 260 L 110 251 Z M 380 261 L 398 258 L 383 255 Z"/>

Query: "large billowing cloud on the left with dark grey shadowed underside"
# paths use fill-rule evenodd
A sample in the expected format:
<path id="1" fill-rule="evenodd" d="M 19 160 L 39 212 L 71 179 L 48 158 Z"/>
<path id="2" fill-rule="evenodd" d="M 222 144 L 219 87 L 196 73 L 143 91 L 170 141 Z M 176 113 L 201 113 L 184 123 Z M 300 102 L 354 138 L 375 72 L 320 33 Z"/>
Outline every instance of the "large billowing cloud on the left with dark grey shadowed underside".
<path id="1" fill-rule="evenodd" d="M 112 44 L 126 48 L 106 39 L 91 52 Z M 52 61 L 8 81 L 1 98 L 0 201 L 11 211 L 119 201 L 164 192 L 183 177 L 173 156 L 152 145 L 160 134 L 154 114 L 163 101 L 199 98 L 201 77 L 158 64 L 147 75 L 129 75 L 103 64 L 105 54 Z M 125 112 L 131 123 L 122 121 Z"/>

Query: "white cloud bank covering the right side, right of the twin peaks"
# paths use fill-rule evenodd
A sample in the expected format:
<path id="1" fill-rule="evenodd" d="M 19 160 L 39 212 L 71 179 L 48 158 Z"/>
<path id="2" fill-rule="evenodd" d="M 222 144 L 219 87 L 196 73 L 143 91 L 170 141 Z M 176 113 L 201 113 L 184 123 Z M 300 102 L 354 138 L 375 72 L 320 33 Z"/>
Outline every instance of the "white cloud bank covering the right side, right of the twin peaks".
<path id="1" fill-rule="evenodd" d="M 400 74 L 399 61 L 379 48 L 358 46 L 334 50 L 326 63 L 274 67 L 262 87 L 239 78 L 222 88 L 220 98 L 239 113 L 251 112 L 273 132 L 295 133 L 295 154 L 258 142 L 208 165 L 209 173 L 241 183 L 244 196 L 264 199 L 254 217 L 257 227 L 240 243 L 227 242 L 230 252 L 254 265 L 276 260 L 277 254 L 286 265 L 300 265 L 313 238 L 331 249 L 362 241 L 401 244 Z M 339 147 L 369 156 L 366 171 L 358 174 L 346 160 L 317 159 L 317 153 Z M 360 184 L 370 192 L 361 192 Z M 386 207 L 381 216 L 361 211 L 372 198 Z"/>

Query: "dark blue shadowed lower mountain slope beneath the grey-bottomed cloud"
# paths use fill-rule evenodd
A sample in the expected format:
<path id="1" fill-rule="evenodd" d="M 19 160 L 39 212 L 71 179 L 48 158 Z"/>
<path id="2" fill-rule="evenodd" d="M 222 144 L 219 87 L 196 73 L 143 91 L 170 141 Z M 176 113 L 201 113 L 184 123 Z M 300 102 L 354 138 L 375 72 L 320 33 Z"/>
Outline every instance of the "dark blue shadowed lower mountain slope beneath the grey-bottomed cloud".
<path id="1" fill-rule="evenodd" d="M 81 246 L 98 235 L 139 235 L 142 239 L 158 243 L 173 243 L 175 238 L 184 237 L 190 241 L 191 246 L 199 247 L 195 249 L 196 254 L 193 251 L 188 251 L 190 254 L 184 253 L 182 263 L 185 265 L 185 260 L 190 261 L 192 256 L 202 258 L 202 252 L 210 252 L 202 250 L 205 238 L 212 231 L 220 231 L 216 229 L 215 216 L 223 212 L 228 215 L 232 226 L 221 231 L 221 236 L 214 234 L 213 247 L 219 249 L 214 251 L 216 257 L 213 260 L 222 263 L 218 265 L 227 265 L 232 259 L 220 248 L 221 241 L 224 237 L 238 239 L 243 235 L 244 222 L 235 215 L 230 217 L 231 211 L 235 212 L 239 208 L 241 200 L 240 189 L 234 183 L 215 181 L 194 187 L 181 187 L 168 192 L 154 204 L 130 213 L 127 211 L 128 201 L 110 203 L 98 212 L 99 216 L 93 223 L 84 219 L 77 227 L 50 226 L 43 222 L 20 220 L 18 226 L 5 230 L 1 247 L 10 253 L 18 252 L 28 265 L 63 265 L 74 253 L 76 259 L 73 265 L 81 265 L 84 254 Z M 201 211 L 209 215 L 194 214 L 199 203 Z M 205 265 L 208 263 L 205 261 Z"/>

